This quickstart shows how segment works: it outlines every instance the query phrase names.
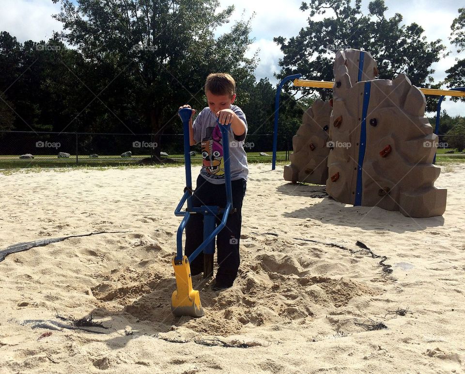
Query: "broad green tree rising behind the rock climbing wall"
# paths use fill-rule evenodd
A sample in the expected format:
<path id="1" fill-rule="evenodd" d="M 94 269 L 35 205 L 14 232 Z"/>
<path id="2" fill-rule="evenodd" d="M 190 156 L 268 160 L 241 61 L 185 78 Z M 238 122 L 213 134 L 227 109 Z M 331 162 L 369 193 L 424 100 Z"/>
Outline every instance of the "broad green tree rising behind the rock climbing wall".
<path id="1" fill-rule="evenodd" d="M 444 49 L 441 40 L 428 42 L 423 28 L 416 23 L 403 25 L 399 13 L 387 18 L 383 0 L 371 1 L 368 15 L 360 8 L 361 0 L 356 0 L 354 5 L 351 0 L 302 2 L 300 9 L 309 12 L 309 26 L 289 40 L 281 36 L 274 38 L 284 53 L 278 78 L 300 73 L 306 79 L 332 81 L 335 52 L 355 48 L 372 54 L 378 63 L 379 78 L 394 79 L 405 73 L 418 87 L 437 87 L 430 84 L 434 73 L 431 65 L 439 61 L 440 51 Z M 313 20 L 326 11 L 332 11 L 334 16 Z M 323 99 L 329 93 L 319 92 Z"/>

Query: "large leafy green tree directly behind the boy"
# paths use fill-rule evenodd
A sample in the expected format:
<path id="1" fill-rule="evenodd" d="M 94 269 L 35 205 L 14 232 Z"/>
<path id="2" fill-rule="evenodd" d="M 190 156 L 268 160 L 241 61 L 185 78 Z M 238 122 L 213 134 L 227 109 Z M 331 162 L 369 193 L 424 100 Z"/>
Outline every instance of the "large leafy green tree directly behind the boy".
<path id="1" fill-rule="evenodd" d="M 205 104 L 203 82 L 209 73 L 230 72 L 241 83 L 254 70 L 255 60 L 245 57 L 251 43 L 249 21 L 215 37 L 233 12 L 233 7 L 217 12 L 217 0 L 60 2 L 55 18 L 63 23 L 62 38 L 77 47 L 96 74 L 103 69 L 108 78 L 103 91 L 124 97 L 127 111 L 137 113 L 142 124 L 127 124 L 130 113 L 121 112 L 119 120 L 133 132 L 150 129 L 157 134 L 155 156 L 160 134 L 176 126 L 173 121 L 179 123 L 177 108 Z M 107 113 L 115 109 L 107 106 Z"/>

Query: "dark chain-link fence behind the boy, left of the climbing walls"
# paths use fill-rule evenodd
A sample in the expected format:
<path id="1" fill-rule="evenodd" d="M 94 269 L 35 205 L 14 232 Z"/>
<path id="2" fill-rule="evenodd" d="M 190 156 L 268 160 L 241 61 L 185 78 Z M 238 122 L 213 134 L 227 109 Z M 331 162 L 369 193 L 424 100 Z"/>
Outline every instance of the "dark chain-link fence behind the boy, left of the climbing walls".
<path id="1" fill-rule="evenodd" d="M 0 131 L 0 169 L 59 166 L 120 166 L 161 161 L 184 163 L 183 134 L 110 134 Z M 248 134 L 244 143 L 249 162 L 270 162 L 272 134 Z M 158 144 L 159 143 L 159 144 Z M 289 159 L 289 147 L 278 152 L 278 161 Z M 202 162 L 200 144 L 191 147 L 192 163 Z"/>

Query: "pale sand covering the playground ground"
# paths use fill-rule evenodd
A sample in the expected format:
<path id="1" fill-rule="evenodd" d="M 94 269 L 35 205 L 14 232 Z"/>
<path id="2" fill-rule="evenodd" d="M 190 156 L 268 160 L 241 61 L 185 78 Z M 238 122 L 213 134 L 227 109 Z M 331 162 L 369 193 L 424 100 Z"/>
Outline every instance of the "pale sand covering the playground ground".
<path id="1" fill-rule="evenodd" d="M 194 277 L 197 319 L 170 307 L 183 168 L 0 174 L 0 250 L 123 232 L 0 263 L 0 373 L 463 372 L 465 165 L 436 181 L 444 216 L 421 219 L 337 203 L 270 169 L 250 167 L 234 286 Z M 108 329 L 65 328 L 57 313 Z M 247 348 L 200 344 L 215 339 Z"/>

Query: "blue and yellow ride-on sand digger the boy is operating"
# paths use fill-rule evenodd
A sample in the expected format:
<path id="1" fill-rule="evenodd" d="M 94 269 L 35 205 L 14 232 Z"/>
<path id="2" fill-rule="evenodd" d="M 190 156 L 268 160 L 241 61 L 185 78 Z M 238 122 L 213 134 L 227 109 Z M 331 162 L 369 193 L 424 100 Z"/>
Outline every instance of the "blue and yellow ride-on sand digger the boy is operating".
<path id="1" fill-rule="evenodd" d="M 192 109 L 183 108 L 179 110 L 179 116 L 183 121 L 184 128 L 184 157 L 186 160 L 186 187 L 184 195 L 179 202 L 174 214 L 184 216 L 179 225 L 176 236 L 176 256 L 173 257 L 172 264 L 176 278 L 176 290 L 171 296 L 171 312 L 176 316 L 189 315 L 191 317 L 201 317 L 204 315 L 200 300 L 200 293 L 194 290 L 190 273 L 190 263 L 203 251 L 203 277 L 208 278 L 213 274 L 213 255 L 215 252 L 215 237 L 224 228 L 228 215 L 233 213 L 233 194 L 231 190 L 231 169 L 229 158 L 229 129 L 231 125 L 219 125 L 223 142 L 224 176 L 226 187 L 226 207 L 202 205 L 192 206 L 192 175 L 190 162 L 190 141 L 189 141 L 189 119 Z M 219 124 L 219 123 L 218 123 Z M 185 211 L 181 211 L 187 202 Z M 216 226 L 216 219 L 223 214 L 220 224 Z M 191 214 L 203 215 L 203 242 L 187 258 L 183 255 L 183 232 Z"/>

